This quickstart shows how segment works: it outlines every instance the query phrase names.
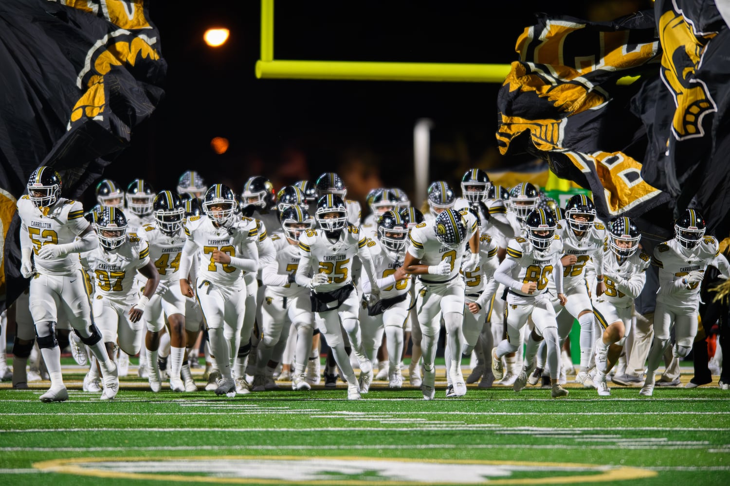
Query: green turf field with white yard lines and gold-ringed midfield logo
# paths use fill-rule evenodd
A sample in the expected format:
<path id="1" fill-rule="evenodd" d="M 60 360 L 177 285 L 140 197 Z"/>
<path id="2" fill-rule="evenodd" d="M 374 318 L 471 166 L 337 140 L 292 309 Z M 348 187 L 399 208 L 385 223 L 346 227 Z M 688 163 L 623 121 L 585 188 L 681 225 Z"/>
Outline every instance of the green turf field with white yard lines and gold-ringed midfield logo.
<path id="1" fill-rule="evenodd" d="M 344 384 L 226 399 L 128 377 L 112 402 L 80 391 L 80 372 L 64 377 L 60 404 L 38 401 L 47 382 L 0 385 L 0 484 L 730 484 L 730 393 L 717 377 L 651 398 L 569 385 L 558 400 L 474 385 L 445 399 L 440 382 L 434 401 L 386 382 L 361 401 Z"/>

